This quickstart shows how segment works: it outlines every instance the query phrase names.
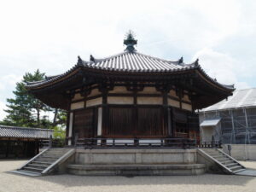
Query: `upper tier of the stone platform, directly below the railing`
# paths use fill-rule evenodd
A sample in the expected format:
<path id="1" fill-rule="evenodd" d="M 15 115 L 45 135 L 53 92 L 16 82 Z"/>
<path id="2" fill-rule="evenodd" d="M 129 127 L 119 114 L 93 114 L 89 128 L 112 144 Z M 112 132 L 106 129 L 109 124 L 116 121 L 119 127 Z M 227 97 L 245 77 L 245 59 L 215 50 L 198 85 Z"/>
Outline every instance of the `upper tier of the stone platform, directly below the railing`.
<path id="1" fill-rule="evenodd" d="M 75 164 L 195 164 L 195 148 L 93 148 L 76 149 Z"/>

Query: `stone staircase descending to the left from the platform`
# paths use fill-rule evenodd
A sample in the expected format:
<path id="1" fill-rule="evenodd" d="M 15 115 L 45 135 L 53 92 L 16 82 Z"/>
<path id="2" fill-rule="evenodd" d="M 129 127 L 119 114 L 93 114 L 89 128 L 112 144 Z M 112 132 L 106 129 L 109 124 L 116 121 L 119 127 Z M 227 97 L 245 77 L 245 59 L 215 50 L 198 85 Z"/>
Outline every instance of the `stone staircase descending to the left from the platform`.
<path id="1" fill-rule="evenodd" d="M 47 148 L 13 172 L 28 176 L 47 175 L 74 153 L 73 148 Z"/>

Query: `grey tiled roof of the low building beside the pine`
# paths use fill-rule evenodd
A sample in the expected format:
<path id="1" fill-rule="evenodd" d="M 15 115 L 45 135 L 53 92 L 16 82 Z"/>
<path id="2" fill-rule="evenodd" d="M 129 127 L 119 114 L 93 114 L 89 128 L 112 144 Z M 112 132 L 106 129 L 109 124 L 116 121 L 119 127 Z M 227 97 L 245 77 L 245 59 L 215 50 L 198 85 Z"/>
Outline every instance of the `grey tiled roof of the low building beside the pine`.
<path id="1" fill-rule="evenodd" d="M 49 129 L 0 125 L 0 137 L 49 138 L 52 135 L 53 131 Z"/>

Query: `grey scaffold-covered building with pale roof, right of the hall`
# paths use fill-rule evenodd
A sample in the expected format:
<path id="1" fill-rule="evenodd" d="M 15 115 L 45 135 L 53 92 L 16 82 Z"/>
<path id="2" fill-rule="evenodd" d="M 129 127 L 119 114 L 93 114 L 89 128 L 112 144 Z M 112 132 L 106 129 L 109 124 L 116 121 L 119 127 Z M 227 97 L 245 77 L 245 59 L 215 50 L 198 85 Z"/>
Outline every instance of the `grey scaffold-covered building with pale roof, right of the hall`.
<path id="1" fill-rule="evenodd" d="M 201 143 L 256 144 L 256 88 L 236 90 L 200 112 Z"/>

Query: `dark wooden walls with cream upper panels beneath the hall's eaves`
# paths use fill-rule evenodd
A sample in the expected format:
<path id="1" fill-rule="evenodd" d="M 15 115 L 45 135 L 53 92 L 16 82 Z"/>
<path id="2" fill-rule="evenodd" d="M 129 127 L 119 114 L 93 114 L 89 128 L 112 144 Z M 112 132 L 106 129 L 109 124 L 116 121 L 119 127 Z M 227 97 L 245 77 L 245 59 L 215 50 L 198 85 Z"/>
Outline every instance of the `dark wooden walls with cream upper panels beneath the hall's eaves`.
<path id="1" fill-rule="evenodd" d="M 73 113 L 73 120 L 69 126 L 72 127 L 74 135 L 79 138 L 199 137 L 198 116 L 194 113 L 188 92 L 183 93 L 183 97 L 187 96 L 187 100 L 183 100 L 178 96 L 178 91 L 171 91 L 175 94 L 171 96 L 170 90 L 161 91 L 152 84 L 146 87 L 140 84 L 139 91 L 131 90 L 123 84 L 117 85 L 109 85 L 111 89 L 100 91 L 100 86 L 94 84 L 92 89 L 97 90 L 96 95 L 84 96 L 81 91 L 73 94 L 69 111 Z M 125 93 L 116 93 L 114 88 L 122 88 Z M 145 88 L 150 88 L 154 93 L 143 91 Z M 91 93 L 91 90 L 88 93 Z M 101 99 L 101 102 L 87 106 L 87 102 L 97 99 Z M 145 102 L 148 99 L 149 101 Z M 168 99 L 177 102 L 177 106 L 173 107 L 172 103 L 168 103 Z M 150 103 L 150 100 L 157 103 Z M 74 107 L 77 104 L 80 106 Z M 190 109 L 184 109 L 183 104 L 188 105 Z M 98 132 L 99 113 L 102 113 L 101 133 Z M 69 129 L 70 127 L 67 129 L 67 136 Z"/>

